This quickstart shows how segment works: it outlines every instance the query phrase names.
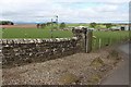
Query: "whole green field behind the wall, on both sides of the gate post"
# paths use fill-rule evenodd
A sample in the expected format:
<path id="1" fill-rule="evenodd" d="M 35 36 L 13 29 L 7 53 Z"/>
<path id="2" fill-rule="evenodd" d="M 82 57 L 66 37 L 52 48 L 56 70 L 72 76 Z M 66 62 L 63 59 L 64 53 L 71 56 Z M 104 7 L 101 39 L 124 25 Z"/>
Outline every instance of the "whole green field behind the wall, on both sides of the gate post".
<path id="1" fill-rule="evenodd" d="M 93 50 L 110 46 L 129 38 L 129 32 L 93 32 Z M 71 30 L 51 30 L 41 28 L 11 27 L 0 29 L 0 38 L 70 38 Z"/>

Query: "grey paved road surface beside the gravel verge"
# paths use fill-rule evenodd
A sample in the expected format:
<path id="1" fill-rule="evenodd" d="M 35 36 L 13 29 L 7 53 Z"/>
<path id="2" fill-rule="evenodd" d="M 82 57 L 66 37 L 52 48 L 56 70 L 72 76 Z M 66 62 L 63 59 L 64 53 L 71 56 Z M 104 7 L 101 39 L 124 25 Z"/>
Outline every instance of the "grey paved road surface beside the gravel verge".
<path id="1" fill-rule="evenodd" d="M 129 44 L 118 48 L 126 53 L 123 61 L 102 82 L 102 85 L 129 85 Z"/>

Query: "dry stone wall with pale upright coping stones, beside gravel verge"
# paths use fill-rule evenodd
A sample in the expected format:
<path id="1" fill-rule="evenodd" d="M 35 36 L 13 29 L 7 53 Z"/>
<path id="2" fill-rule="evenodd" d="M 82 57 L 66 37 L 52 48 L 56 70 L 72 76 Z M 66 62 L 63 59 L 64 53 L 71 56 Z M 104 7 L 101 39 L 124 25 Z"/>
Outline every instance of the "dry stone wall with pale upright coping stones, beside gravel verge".
<path id="1" fill-rule="evenodd" d="M 2 66 L 19 66 L 33 62 L 44 62 L 81 51 L 76 37 L 56 39 L 0 39 L 2 45 Z"/>

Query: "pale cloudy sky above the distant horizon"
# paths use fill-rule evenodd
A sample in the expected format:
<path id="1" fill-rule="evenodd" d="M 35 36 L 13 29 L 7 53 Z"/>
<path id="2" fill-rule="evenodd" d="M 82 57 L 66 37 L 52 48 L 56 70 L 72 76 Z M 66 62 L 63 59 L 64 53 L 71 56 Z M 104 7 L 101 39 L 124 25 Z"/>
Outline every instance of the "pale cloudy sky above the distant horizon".
<path id="1" fill-rule="evenodd" d="M 59 23 L 128 22 L 130 0 L 1 0 L 0 20 Z"/>

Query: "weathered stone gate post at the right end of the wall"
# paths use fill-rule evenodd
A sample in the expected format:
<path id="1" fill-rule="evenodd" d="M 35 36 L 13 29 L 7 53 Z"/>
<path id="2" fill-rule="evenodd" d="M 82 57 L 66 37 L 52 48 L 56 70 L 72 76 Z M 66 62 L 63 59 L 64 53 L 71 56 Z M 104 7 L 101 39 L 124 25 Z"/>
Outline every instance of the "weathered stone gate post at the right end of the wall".
<path id="1" fill-rule="evenodd" d="M 73 28 L 72 33 L 80 40 L 80 49 L 82 52 L 90 53 L 92 51 L 93 30 L 86 27 Z"/>

